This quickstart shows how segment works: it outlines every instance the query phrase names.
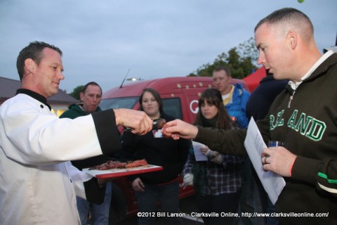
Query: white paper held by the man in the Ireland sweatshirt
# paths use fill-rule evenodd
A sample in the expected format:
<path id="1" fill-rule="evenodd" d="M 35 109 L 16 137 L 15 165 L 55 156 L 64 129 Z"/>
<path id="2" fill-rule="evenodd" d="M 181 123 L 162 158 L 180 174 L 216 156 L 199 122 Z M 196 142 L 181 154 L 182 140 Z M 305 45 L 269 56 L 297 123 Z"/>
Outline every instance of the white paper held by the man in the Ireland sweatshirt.
<path id="1" fill-rule="evenodd" d="M 275 174 L 274 172 L 270 171 L 265 172 L 263 170 L 261 154 L 263 148 L 267 148 L 267 146 L 262 139 L 260 131 L 258 130 L 258 126 L 253 120 L 253 117 L 251 117 L 251 121 L 249 122 L 246 140 L 244 141 L 244 147 L 246 148 L 253 167 L 256 170 L 261 183 L 263 184 L 263 188 L 265 188 L 265 191 L 272 201 L 272 204 L 275 205 L 279 194 L 282 192 L 284 186 L 286 186 L 286 181 L 284 181 L 283 177 L 279 174 Z"/>

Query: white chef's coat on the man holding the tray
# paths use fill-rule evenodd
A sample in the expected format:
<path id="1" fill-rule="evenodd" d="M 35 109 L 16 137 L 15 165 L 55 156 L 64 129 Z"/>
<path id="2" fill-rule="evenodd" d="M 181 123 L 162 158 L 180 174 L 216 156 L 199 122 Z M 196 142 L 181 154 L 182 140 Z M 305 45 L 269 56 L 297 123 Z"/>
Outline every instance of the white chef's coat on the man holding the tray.
<path id="1" fill-rule="evenodd" d="M 98 136 L 91 115 L 59 119 L 27 94 L 5 101 L 0 107 L 0 224 L 81 224 L 76 195 L 86 198 L 83 182 L 91 177 L 69 160 L 101 155 Z"/>

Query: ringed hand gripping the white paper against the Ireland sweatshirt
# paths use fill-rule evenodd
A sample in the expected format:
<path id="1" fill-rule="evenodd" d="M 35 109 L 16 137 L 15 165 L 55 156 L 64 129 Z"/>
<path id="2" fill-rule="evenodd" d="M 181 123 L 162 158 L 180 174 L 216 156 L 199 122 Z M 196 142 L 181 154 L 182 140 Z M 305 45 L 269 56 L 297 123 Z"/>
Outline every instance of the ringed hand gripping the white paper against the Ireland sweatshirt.
<path id="1" fill-rule="evenodd" d="M 282 146 L 278 146 L 263 149 L 261 156 L 265 171 L 270 170 L 284 177 L 291 176 L 291 169 L 297 155 Z"/>

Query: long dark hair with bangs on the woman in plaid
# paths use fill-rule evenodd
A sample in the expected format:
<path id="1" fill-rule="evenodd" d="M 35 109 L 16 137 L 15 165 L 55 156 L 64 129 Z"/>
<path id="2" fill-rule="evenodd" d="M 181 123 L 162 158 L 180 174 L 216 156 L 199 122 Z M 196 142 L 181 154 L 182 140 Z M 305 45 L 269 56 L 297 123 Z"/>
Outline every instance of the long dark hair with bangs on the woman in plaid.
<path id="1" fill-rule="evenodd" d="M 206 103 L 215 105 L 218 108 L 218 115 L 216 115 L 216 128 L 218 129 L 231 129 L 232 119 L 228 115 L 225 106 L 223 105 L 223 97 L 218 89 L 206 89 L 199 98 L 199 111 L 194 125 L 205 127 L 204 121 L 206 118 L 201 113 L 201 104 Z"/>

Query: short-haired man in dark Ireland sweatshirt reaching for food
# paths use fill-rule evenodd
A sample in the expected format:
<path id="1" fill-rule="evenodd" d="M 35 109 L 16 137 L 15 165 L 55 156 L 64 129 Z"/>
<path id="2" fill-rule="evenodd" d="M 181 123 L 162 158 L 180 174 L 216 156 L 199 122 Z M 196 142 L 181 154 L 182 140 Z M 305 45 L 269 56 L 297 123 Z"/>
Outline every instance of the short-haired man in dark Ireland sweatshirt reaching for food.
<path id="1" fill-rule="evenodd" d="M 280 224 L 337 224 L 337 53 L 323 56 L 310 19 L 282 8 L 255 28 L 258 63 L 289 84 L 256 122 L 264 141 L 285 141 L 263 149 L 263 169 L 284 177 L 275 204 Z M 175 120 L 164 135 L 194 139 L 221 153 L 245 154 L 246 130 L 205 129 Z M 270 216 L 273 216 L 270 215 Z"/>

